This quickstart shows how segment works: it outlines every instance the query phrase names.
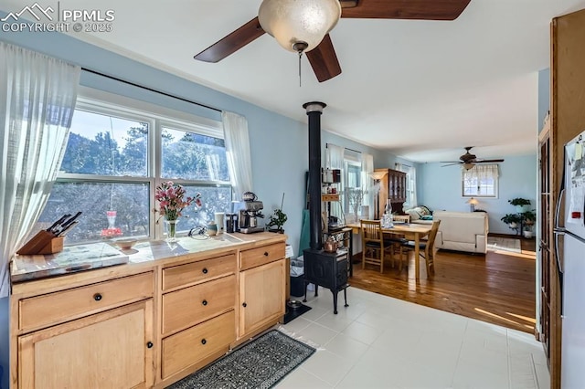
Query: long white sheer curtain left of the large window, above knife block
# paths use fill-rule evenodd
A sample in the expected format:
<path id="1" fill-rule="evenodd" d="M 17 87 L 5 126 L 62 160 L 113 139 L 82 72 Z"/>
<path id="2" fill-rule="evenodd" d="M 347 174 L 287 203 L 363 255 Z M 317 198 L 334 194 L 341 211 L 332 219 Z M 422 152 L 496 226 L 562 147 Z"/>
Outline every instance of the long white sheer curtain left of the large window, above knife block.
<path id="1" fill-rule="evenodd" d="M 79 81 L 80 67 L 0 42 L 0 297 L 57 177 Z"/>

